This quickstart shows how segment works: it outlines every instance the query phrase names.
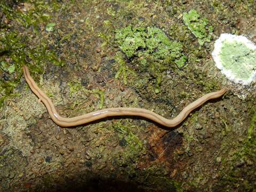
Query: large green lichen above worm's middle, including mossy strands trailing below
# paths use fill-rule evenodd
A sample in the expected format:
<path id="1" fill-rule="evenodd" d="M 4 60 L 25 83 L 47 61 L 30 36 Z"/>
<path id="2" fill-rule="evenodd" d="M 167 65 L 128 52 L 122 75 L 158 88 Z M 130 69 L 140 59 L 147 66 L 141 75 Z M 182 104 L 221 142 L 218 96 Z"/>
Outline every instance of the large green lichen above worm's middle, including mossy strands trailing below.
<path id="1" fill-rule="evenodd" d="M 182 44 L 172 41 L 163 30 L 157 27 L 132 27 L 118 30 L 115 42 L 131 63 L 138 66 L 135 71 L 146 71 L 155 78 L 155 93 L 161 91 L 162 73 L 171 68 L 184 66 L 187 58 L 182 53 Z M 119 55 L 118 55 L 119 57 Z M 120 58 L 120 57 L 119 57 Z M 123 60 L 117 76 L 124 70 Z M 139 65 L 138 65 L 139 64 Z"/>

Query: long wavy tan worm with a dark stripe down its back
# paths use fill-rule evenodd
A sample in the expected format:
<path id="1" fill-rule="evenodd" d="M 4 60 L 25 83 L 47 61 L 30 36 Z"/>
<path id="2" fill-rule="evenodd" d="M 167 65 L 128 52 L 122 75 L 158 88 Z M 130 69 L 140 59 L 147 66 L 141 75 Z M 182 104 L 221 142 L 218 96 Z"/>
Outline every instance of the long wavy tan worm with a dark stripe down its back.
<path id="1" fill-rule="evenodd" d="M 62 127 L 82 125 L 85 123 L 93 122 L 98 119 L 102 119 L 105 117 L 113 117 L 113 116 L 140 116 L 140 117 L 151 119 L 152 121 L 157 122 L 166 127 L 175 127 L 179 125 L 189 115 L 189 113 L 192 110 L 203 105 L 204 102 L 210 99 L 221 97 L 227 91 L 226 89 L 222 89 L 217 92 L 205 94 L 203 97 L 197 99 L 196 101 L 190 103 L 187 107 L 183 108 L 180 114 L 174 119 L 166 119 L 154 113 L 153 111 L 150 111 L 147 109 L 141 109 L 141 108 L 132 108 L 132 107 L 106 108 L 106 109 L 94 111 L 94 112 L 77 116 L 77 117 L 65 118 L 65 117 L 61 117 L 57 113 L 51 99 L 47 97 L 47 95 L 39 89 L 34 79 L 30 76 L 28 67 L 23 66 L 22 68 L 30 89 L 44 103 L 49 115 L 52 118 L 52 121 Z"/>

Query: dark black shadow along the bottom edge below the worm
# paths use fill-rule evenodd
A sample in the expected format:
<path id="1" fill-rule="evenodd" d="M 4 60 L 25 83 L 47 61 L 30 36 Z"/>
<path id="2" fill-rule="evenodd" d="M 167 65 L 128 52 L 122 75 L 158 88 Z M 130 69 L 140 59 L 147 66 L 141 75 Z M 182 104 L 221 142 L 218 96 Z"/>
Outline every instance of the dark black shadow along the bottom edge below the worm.
<path id="1" fill-rule="evenodd" d="M 55 174 L 55 173 L 54 173 Z M 74 174 L 74 173 L 73 173 Z M 33 181 L 30 181 L 28 185 L 25 186 L 28 190 L 15 190 L 15 191 L 49 191 L 49 192 L 98 192 L 98 191 L 124 191 L 124 192 L 143 192 L 143 191 L 163 191 L 163 192 L 172 192 L 177 191 L 173 182 L 166 182 L 166 180 L 159 180 L 155 182 L 148 182 L 149 178 L 129 178 L 126 177 L 123 180 L 118 179 L 117 175 L 110 173 L 110 175 L 104 177 L 104 173 L 95 174 L 92 171 L 87 171 L 76 175 L 73 175 L 73 178 L 69 176 L 59 177 L 55 179 L 54 182 L 51 180 L 56 175 L 48 173 L 43 176 L 43 178 L 35 178 Z M 119 177 L 119 176 L 118 176 Z M 24 185 L 21 185 L 24 186 Z M 16 188 L 17 189 L 17 188 Z"/>

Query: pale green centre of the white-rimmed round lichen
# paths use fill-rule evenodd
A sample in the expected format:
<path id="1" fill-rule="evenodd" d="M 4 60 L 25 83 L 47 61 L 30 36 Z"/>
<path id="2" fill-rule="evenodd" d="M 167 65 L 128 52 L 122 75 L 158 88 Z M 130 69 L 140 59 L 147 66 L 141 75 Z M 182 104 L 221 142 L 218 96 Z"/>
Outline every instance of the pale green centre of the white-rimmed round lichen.
<path id="1" fill-rule="evenodd" d="M 234 78 L 248 81 L 256 68 L 256 50 L 242 42 L 222 42 L 220 59 L 225 70 L 230 70 Z"/>

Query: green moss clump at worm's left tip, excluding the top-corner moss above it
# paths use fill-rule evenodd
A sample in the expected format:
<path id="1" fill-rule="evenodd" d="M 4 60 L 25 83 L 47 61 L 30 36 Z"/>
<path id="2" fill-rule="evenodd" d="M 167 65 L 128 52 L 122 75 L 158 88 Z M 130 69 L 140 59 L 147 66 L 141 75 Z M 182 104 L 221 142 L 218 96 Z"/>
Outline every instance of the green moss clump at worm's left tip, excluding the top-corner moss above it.
<path id="1" fill-rule="evenodd" d="M 9 81 L 0 80 L 0 106 L 19 84 L 19 79 L 22 76 L 21 67 L 23 65 L 33 63 L 34 65 L 29 65 L 32 74 L 42 74 L 42 66 L 46 65 L 46 63 L 53 63 L 56 66 L 64 65 L 64 62 L 57 57 L 56 53 L 48 49 L 46 43 L 30 48 L 26 46 L 27 41 L 28 38 L 26 36 L 20 36 L 15 31 L 6 33 L 0 38 L 0 45 L 3 47 L 0 50 L 0 53 L 3 54 L 0 58 L 0 70 L 3 73 L 9 74 Z M 8 58 L 7 61 L 5 58 Z"/>

